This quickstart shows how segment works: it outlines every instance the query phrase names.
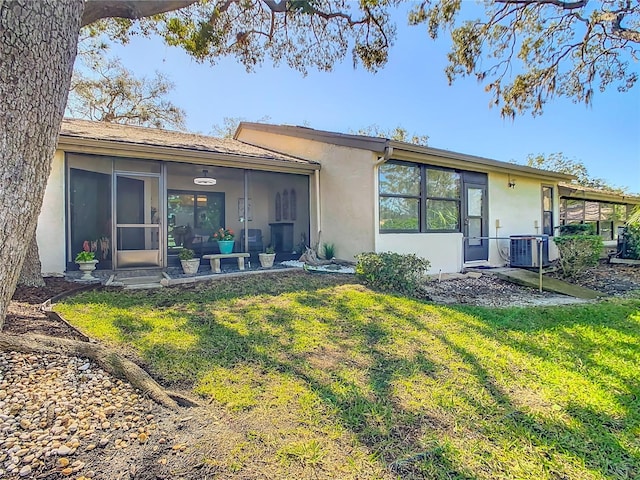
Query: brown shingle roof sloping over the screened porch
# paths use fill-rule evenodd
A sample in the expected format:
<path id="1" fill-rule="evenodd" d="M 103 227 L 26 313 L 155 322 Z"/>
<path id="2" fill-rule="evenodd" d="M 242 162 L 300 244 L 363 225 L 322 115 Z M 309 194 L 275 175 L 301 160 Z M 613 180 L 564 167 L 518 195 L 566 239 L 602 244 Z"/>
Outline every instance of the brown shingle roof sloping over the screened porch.
<path id="1" fill-rule="evenodd" d="M 158 128 L 119 125 L 65 118 L 60 127 L 60 137 L 81 138 L 181 150 L 202 151 L 245 159 L 267 159 L 298 165 L 315 165 L 316 162 L 248 145 L 239 140 L 215 138 L 206 135 L 162 130 Z"/>

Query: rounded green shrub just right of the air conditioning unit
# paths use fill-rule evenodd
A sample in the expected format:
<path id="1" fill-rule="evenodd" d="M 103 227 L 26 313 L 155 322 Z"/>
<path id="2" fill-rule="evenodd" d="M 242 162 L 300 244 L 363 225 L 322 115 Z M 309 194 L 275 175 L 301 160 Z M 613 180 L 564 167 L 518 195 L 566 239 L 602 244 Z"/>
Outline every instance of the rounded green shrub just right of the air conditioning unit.
<path id="1" fill-rule="evenodd" d="M 567 278 L 576 278 L 597 265 L 604 246 L 598 235 L 561 235 L 553 241 L 560 253 L 562 276 Z"/>

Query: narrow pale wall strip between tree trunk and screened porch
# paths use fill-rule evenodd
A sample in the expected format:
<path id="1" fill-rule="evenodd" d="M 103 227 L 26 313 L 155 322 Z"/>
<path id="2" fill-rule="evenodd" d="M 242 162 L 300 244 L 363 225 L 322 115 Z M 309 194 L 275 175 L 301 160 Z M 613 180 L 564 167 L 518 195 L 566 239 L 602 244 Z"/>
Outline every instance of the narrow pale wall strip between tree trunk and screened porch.
<path id="1" fill-rule="evenodd" d="M 53 157 L 36 230 L 42 272 L 45 275 L 61 275 L 66 269 L 64 205 L 64 153 L 57 151 Z"/>

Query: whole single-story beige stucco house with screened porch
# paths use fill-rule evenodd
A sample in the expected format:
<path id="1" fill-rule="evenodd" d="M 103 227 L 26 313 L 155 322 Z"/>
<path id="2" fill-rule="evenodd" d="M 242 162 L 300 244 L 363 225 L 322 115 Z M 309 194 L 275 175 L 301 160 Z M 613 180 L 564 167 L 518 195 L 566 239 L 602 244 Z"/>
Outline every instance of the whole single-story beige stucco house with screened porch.
<path id="1" fill-rule="evenodd" d="M 508 263 L 513 235 L 552 236 L 562 223 L 591 221 L 567 213 L 579 196 L 571 179 L 304 127 L 242 123 L 233 139 L 218 139 L 64 120 L 37 238 L 45 273 L 74 269 L 85 242 L 101 268 L 164 268 L 183 248 L 217 253 L 213 233 L 223 226 L 238 233 L 236 251 L 271 245 L 287 259 L 333 243 L 340 258 L 415 253 L 434 273 L 457 272 Z M 617 215 L 614 240 L 621 212 L 640 199 L 604 203 Z M 593 221 L 608 211 L 599 207 Z M 553 242 L 544 245 L 553 259 Z"/>

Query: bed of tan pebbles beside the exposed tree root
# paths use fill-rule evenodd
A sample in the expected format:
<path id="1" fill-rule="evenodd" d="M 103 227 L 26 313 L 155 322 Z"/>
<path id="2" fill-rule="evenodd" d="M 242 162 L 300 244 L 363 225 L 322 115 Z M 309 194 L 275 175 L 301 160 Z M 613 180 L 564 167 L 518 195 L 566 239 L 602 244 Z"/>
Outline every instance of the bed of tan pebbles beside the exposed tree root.
<path id="1" fill-rule="evenodd" d="M 92 450 L 125 449 L 158 435 L 156 406 L 91 362 L 0 353 L 0 477 L 96 477 Z"/>

